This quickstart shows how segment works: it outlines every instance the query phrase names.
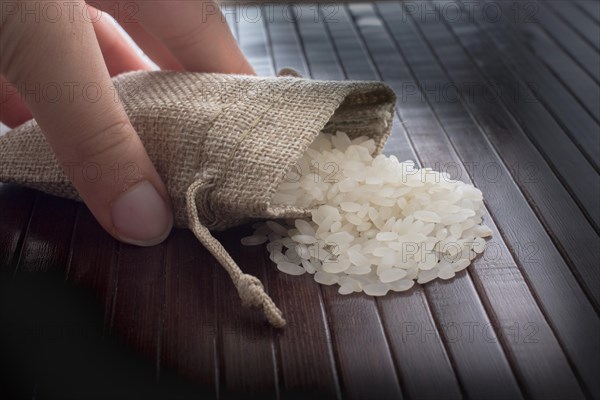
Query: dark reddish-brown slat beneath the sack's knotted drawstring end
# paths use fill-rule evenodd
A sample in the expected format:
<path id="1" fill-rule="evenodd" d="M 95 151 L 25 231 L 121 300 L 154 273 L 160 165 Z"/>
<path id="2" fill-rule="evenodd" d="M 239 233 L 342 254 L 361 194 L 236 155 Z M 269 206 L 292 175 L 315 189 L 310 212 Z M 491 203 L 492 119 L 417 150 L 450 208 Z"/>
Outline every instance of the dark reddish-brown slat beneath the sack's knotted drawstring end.
<path id="1" fill-rule="evenodd" d="M 264 256 L 255 249 L 240 245 L 248 227 L 230 229 L 217 237 L 240 268 L 266 282 Z M 209 259 L 205 268 L 214 271 L 215 314 L 218 315 L 218 380 L 223 398 L 278 397 L 278 355 L 273 340 L 274 329 L 261 311 L 243 308 L 229 275 L 216 260 Z M 265 291 L 270 293 L 269 287 Z"/>

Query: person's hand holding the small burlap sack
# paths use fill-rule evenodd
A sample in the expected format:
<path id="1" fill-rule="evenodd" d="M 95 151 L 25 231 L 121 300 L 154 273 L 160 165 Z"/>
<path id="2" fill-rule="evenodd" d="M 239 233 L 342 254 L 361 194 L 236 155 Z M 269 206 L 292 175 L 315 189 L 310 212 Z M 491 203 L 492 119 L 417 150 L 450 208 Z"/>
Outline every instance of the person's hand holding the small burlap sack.
<path id="1" fill-rule="evenodd" d="M 161 68 L 253 74 L 211 1 L 98 1 Z M 0 0 L 0 119 L 32 116 L 98 222 L 115 238 L 162 242 L 167 189 L 115 96 L 111 76 L 151 69 L 107 15 L 84 1 Z M 95 165 L 94 165 L 95 164 Z M 100 167 L 85 179 L 84 169 Z M 115 168 L 134 168 L 132 180 Z"/>

